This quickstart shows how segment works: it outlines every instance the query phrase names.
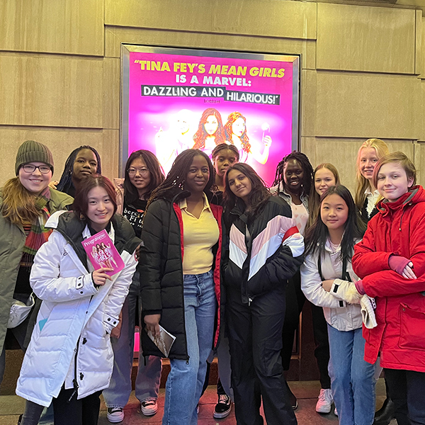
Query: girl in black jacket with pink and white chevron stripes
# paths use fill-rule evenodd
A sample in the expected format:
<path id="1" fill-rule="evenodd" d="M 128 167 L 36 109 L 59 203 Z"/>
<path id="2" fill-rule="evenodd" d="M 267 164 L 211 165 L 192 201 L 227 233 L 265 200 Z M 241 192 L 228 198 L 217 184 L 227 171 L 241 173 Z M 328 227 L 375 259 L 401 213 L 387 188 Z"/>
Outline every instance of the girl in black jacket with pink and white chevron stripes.
<path id="1" fill-rule="evenodd" d="M 290 207 L 271 196 L 247 164 L 225 175 L 229 242 L 224 266 L 232 388 L 237 423 L 296 424 L 280 349 L 285 290 L 302 262 L 303 238 Z"/>

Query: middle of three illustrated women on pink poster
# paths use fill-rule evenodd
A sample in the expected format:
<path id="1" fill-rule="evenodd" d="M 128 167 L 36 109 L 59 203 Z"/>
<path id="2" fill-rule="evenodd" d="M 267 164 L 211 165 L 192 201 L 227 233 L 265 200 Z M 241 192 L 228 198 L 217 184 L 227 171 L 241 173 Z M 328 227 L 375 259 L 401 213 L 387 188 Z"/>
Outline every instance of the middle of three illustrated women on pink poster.
<path id="1" fill-rule="evenodd" d="M 225 143 L 225 128 L 217 109 L 207 108 L 203 111 L 193 140 L 195 142 L 193 149 L 203 150 L 208 157 L 211 157 L 212 149 L 221 143 Z"/>

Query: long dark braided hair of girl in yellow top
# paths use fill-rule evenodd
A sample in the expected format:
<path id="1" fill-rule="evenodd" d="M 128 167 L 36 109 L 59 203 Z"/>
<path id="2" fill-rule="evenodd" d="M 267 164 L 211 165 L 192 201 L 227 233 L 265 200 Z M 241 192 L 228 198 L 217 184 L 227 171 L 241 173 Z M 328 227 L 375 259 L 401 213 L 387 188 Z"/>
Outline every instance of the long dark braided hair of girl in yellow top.
<path id="1" fill-rule="evenodd" d="M 147 205 L 149 206 L 155 199 L 171 197 L 176 188 L 183 190 L 184 181 L 188 175 L 189 169 L 191 169 L 193 158 L 198 155 L 207 160 L 208 169 L 210 170 L 210 179 L 208 179 L 208 183 L 204 188 L 204 192 L 209 193 L 215 181 L 214 167 L 212 166 L 210 158 L 199 149 L 186 149 L 174 159 L 169 174 L 167 174 L 166 179 L 152 191 Z"/>

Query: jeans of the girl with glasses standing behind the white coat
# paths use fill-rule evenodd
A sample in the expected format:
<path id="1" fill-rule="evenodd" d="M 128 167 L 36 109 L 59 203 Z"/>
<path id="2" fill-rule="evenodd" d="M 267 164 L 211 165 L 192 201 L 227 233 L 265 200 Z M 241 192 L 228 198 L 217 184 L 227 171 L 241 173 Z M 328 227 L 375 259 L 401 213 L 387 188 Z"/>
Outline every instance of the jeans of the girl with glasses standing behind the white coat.
<path id="1" fill-rule="evenodd" d="M 131 370 L 135 339 L 135 314 L 137 298 L 140 296 L 140 275 L 136 271 L 130 290 L 123 305 L 123 324 L 120 338 L 111 338 L 114 354 L 111 383 L 103 390 L 103 399 L 107 407 L 125 407 L 132 390 Z M 141 305 L 139 303 L 139 305 Z M 162 361 L 157 356 L 142 357 L 142 345 L 139 348 L 139 368 L 135 382 L 135 395 L 140 402 L 157 399 L 161 382 Z"/>

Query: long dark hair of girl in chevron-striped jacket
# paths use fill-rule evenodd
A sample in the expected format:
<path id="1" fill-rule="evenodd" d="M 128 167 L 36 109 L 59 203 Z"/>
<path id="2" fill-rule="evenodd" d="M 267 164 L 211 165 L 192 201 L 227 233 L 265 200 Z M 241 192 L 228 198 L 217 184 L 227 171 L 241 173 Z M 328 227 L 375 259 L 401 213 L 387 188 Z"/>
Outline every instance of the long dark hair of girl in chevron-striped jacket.
<path id="1" fill-rule="evenodd" d="M 249 205 L 247 205 L 246 212 L 248 213 L 249 218 L 255 217 L 255 215 L 261 212 L 268 198 L 271 196 L 268 188 L 266 187 L 266 183 L 264 183 L 263 179 L 256 174 L 254 169 L 243 162 L 238 162 L 230 166 L 225 174 L 225 192 L 223 193 L 223 200 L 225 210 L 232 210 L 234 205 L 236 205 L 237 200 L 239 199 L 229 187 L 229 172 L 232 170 L 240 171 L 244 174 L 249 181 L 251 182 L 251 193 L 249 193 Z"/>

